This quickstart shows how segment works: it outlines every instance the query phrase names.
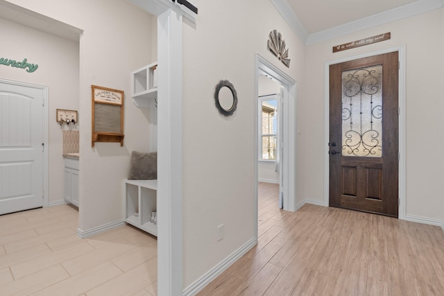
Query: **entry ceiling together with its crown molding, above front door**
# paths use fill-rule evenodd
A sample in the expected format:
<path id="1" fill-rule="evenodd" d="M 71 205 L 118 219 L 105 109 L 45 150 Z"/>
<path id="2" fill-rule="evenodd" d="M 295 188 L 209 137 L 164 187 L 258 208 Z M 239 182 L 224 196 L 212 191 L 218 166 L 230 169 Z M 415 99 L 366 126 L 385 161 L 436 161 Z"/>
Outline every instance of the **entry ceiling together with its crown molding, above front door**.
<path id="1" fill-rule="evenodd" d="M 423 12 L 444 0 L 271 0 L 293 31 L 312 44 Z"/>

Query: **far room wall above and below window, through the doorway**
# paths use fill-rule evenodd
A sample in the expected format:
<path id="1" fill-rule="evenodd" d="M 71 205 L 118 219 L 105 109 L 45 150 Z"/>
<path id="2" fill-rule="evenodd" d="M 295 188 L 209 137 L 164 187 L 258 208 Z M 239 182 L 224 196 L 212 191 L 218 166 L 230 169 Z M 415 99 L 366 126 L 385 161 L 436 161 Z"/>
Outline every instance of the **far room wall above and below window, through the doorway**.
<path id="1" fill-rule="evenodd" d="M 280 92 L 280 85 L 278 82 L 275 82 L 264 75 L 259 76 L 257 83 L 257 94 L 259 94 L 259 96 L 279 94 Z M 259 161 L 257 165 L 258 180 L 261 182 L 279 183 L 279 172 L 276 172 L 275 168 L 275 162 Z"/>

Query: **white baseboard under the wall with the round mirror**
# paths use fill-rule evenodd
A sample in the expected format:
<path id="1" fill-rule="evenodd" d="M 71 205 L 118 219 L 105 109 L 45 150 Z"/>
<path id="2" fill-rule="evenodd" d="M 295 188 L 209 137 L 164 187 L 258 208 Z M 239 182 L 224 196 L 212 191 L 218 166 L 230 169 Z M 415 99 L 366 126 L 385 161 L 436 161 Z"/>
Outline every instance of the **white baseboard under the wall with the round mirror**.
<path id="1" fill-rule="evenodd" d="M 185 296 L 196 295 L 200 290 L 205 288 L 207 284 L 210 284 L 210 282 L 213 279 L 216 279 L 216 277 L 221 275 L 222 272 L 224 272 L 227 268 L 229 268 L 232 265 L 232 263 L 236 262 L 239 258 L 241 258 L 241 256 L 244 256 L 244 254 L 246 254 L 246 252 L 251 250 L 251 248 L 254 247 L 256 244 L 257 240 L 255 238 L 251 238 L 250 241 L 248 241 L 245 245 L 240 247 L 236 252 L 232 253 L 225 260 L 221 261 L 221 263 L 214 266 L 214 268 L 212 268 L 205 275 L 200 277 L 200 279 L 198 279 L 193 284 L 188 286 L 183 291 L 182 295 Z"/>

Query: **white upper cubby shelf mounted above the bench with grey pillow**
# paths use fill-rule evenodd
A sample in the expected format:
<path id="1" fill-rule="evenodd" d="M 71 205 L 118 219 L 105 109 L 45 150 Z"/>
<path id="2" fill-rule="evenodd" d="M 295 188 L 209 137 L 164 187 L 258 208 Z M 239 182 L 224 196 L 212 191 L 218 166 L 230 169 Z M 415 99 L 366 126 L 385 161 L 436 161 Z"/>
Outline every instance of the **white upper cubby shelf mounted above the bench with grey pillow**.
<path id="1" fill-rule="evenodd" d="M 157 105 L 157 62 L 148 64 L 132 73 L 133 103 L 137 107 L 152 108 Z"/>

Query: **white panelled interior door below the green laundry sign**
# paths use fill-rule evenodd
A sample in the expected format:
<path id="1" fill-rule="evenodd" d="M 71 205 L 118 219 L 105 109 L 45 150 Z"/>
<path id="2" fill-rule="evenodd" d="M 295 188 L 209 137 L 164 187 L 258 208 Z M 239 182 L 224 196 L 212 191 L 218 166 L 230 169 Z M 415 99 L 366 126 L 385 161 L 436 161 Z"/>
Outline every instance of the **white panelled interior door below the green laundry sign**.
<path id="1" fill-rule="evenodd" d="M 42 207 L 44 89 L 0 80 L 0 214 Z"/>

